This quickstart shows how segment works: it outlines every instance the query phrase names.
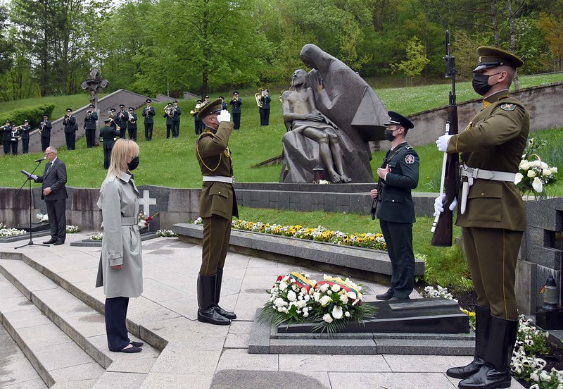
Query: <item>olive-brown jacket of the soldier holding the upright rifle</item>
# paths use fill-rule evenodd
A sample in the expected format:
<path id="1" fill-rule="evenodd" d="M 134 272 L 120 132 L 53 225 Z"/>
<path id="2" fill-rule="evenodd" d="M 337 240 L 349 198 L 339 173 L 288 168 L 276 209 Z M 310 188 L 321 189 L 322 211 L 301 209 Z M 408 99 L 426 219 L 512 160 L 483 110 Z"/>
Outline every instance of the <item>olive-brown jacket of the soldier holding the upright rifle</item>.
<path id="1" fill-rule="evenodd" d="M 460 152 L 471 168 L 517 173 L 530 130 L 528 110 L 500 92 L 497 101 L 477 113 L 467 128 L 450 138 L 448 152 Z M 461 198 L 461 192 L 458 200 Z M 514 183 L 474 180 L 467 209 L 457 226 L 526 230 L 526 212 Z"/>

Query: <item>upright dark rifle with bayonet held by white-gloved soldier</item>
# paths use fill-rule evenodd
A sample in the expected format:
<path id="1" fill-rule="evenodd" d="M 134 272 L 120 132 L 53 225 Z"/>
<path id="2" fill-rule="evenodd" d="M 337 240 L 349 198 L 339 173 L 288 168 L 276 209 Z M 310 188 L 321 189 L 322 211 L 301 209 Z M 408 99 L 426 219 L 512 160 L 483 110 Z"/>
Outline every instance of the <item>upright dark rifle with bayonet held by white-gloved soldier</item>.
<path id="1" fill-rule="evenodd" d="M 452 78 L 452 90 L 450 90 L 450 104 L 448 105 L 448 121 L 445 123 L 445 134 L 456 135 L 457 128 L 457 104 L 455 104 L 455 57 L 450 56 L 450 32 L 445 30 L 445 77 Z M 444 194 L 445 185 L 445 201 L 442 206 L 444 211 L 441 212 L 432 223 L 432 242 L 431 245 L 436 247 L 450 247 L 453 239 L 453 211 L 450 211 L 452 204 L 457 195 L 457 173 L 460 168 L 460 157 L 457 153 L 444 153 L 442 163 L 442 179 L 440 184 L 440 197 Z"/>

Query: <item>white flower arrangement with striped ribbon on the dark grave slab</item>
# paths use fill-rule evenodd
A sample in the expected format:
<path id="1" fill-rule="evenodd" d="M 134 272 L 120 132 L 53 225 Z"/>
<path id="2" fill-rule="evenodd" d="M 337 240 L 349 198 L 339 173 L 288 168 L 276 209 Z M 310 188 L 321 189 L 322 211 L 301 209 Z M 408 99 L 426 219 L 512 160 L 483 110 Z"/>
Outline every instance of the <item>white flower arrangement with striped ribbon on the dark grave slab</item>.
<path id="1" fill-rule="evenodd" d="M 350 281 L 324 275 L 318 283 L 305 273 L 293 272 L 279 276 L 267 293 L 267 302 L 259 321 L 275 326 L 281 323 L 315 323 L 312 331 L 336 333 L 349 321 L 372 319 L 377 308 L 360 304 L 362 287 Z"/>

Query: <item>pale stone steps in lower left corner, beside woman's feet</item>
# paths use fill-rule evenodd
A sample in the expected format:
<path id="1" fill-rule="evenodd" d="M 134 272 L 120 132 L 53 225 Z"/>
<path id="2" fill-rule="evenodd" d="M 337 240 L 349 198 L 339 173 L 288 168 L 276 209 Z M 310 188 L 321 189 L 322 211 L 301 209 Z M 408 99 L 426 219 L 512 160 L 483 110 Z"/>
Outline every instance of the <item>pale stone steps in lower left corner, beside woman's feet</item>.
<path id="1" fill-rule="evenodd" d="M 103 314 L 65 288 L 37 262 L 0 259 L 0 321 L 39 376 L 49 388 L 139 388 L 160 350 L 145 341 L 140 354 L 110 352 Z"/>

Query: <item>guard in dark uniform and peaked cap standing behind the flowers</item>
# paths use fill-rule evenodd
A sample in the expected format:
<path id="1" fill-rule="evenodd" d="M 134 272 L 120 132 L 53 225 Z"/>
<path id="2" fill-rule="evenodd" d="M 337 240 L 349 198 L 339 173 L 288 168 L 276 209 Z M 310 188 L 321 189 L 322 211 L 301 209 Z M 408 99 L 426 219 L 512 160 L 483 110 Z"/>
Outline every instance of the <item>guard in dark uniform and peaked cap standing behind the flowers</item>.
<path id="1" fill-rule="evenodd" d="M 410 120 L 389 111 L 385 137 L 391 142 L 384 163 L 377 169 L 382 183 L 381 193 L 372 190 L 377 199 L 377 218 L 385 237 L 393 272 L 391 286 L 378 300 L 405 300 L 415 286 L 415 254 L 412 252 L 412 223 L 415 223 L 415 204 L 411 190 L 418 185 L 419 158 L 405 140 L 407 131 L 414 128 Z"/>

